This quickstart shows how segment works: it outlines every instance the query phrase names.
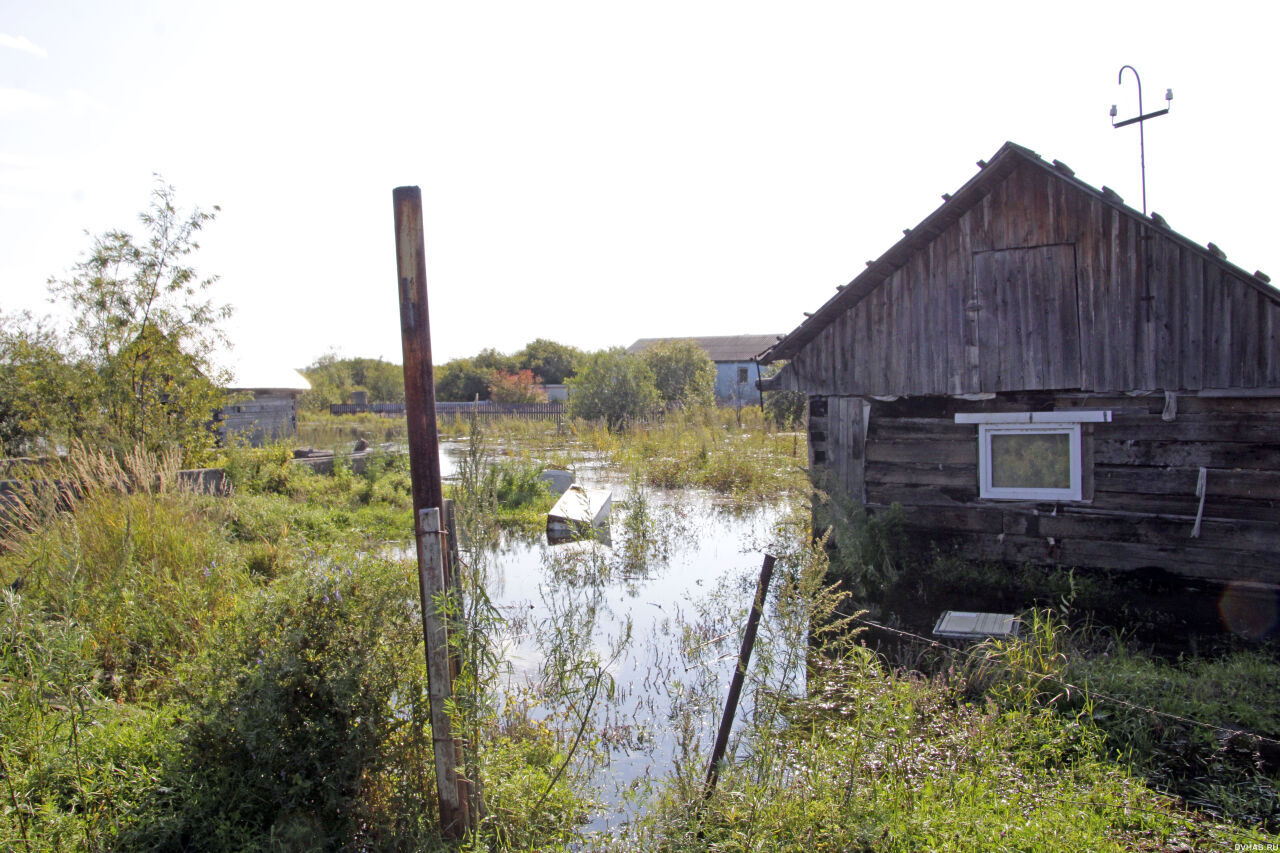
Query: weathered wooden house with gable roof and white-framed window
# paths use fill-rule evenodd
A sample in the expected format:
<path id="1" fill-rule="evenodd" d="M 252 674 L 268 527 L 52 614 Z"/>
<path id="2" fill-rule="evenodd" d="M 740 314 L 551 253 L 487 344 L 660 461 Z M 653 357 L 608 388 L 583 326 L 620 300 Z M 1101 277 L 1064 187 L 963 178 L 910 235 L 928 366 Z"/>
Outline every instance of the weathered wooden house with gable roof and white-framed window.
<path id="1" fill-rule="evenodd" d="M 1006 143 L 762 361 L 810 466 L 964 555 L 1280 581 L 1280 291 Z"/>

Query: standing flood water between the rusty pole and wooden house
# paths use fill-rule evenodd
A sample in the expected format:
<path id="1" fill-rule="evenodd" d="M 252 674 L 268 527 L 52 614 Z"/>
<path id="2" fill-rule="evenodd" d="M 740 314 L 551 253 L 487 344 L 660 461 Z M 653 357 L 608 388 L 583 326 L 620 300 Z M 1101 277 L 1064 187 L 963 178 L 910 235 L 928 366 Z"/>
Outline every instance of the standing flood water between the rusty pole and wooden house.
<path id="1" fill-rule="evenodd" d="M 460 452 L 442 453 L 445 476 Z M 612 547 L 506 537 L 483 560 L 506 617 L 507 693 L 534 697 L 529 716 L 548 720 L 564 745 L 588 716 L 590 743 L 575 768 L 600 803 L 588 829 L 608 831 L 643 811 L 648 784 L 677 762 L 705 771 L 742 619 L 786 507 L 636 493 L 599 466 L 580 467 L 577 482 L 612 489 Z M 765 663 L 755 661 L 778 657 L 760 652 L 769 637 L 763 628 L 756 678 Z M 740 720 L 750 712 L 744 698 Z"/>

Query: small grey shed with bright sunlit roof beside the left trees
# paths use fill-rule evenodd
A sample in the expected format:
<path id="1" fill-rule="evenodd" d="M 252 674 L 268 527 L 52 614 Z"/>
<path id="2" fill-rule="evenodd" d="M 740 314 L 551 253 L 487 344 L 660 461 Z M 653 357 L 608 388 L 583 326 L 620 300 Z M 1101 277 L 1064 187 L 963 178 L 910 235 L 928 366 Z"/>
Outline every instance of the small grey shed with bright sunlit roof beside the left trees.
<path id="1" fill-rule="evenodd" d="M 298 434 L 298 396 L 311 389 L 293 368 L 236 365 L 227 393 L 236 400 L 214 415 L 218 435 L 239 435 L 253 447 Z"/>

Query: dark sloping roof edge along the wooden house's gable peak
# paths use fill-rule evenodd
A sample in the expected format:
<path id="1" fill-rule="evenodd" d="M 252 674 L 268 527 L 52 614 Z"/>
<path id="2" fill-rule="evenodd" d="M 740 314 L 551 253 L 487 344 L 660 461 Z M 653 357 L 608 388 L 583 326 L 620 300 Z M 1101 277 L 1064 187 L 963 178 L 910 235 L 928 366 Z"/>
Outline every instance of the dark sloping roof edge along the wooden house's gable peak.
<path id="1" fill-rule="evenodd" d="M 1075 173 L 1066 164 L 1059 160 L 1047 163 L 1030 149 L 1014 142 L 1005 142 L 996 151 L 995 156 L 991 158 L 989 163 L 979 160 L 978 174 L 956 190 L 955 193 L 945 195 L 943 202 L 937 210 L 925 216 L 915 228 L 906 232 L 902 240 L 893 243 L 877 260 L 868 261 L 867 269 L 863 273 L 856 275 L 849 284 L 841 286 L 836 295 L 827 300 L 817 311 L 809 314 L 804 323 L 769 347 L 767 352 L 763 352 L 760 362 L 771 364 L 778 360 L 794 359 L 800 350 L 818 337 L 845 310 L 856 305 L 863 297 L 879 287 L 895 272 L 902 268 L 913 254 L 928 246 L 932 240 L 991 195 L 1015 168 L 1023 164 L 1032 164 L 1037 169 L 1053 175 L 1056 179 L 1088 193 L 1121 215 L 1140 222 L 1144 227 L 1152 228 L 1164 237 L 1202 255 L 1210 263 L 1224 268 L 1233 277 L 1254 287 L 1276 305 L 1280 305 L 1280 291 L 1271 286 L 1271 279 L 1267 275 L 1263 275 L 1261 272 L 1248 273 L 1228 263 L 1226 255 L 1213 243 L 1201 246 L 1170 228 L 1160 214 L 1152 213 L 1149 216 L 1144 216 L 1140 211 L 1129 207 L 1124 204 L 1124 199 L 1110 187 L 1098 190 L 1076 178 Z"/>

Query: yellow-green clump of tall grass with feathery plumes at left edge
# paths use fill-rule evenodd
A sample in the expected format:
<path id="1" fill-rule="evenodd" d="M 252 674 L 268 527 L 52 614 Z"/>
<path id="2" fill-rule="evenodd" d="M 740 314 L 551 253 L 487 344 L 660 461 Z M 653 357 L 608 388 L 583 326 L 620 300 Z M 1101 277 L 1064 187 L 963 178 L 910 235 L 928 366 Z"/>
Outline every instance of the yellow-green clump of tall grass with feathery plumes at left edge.
<path id="1" fill-rule="evenodd" d="M 172 460 L 170 460 L 172 464 Z M 86 651 L 118 697 L 165 681 L 246 585 L 214 498 L 161 487 L 173 471 L 147 453 L 125 460 L 74 451 L 51 473 L 64 506 L 20 506 L 33 529 L 10 534 L 0 579 L 29 607 L 83 630 Z"/>

